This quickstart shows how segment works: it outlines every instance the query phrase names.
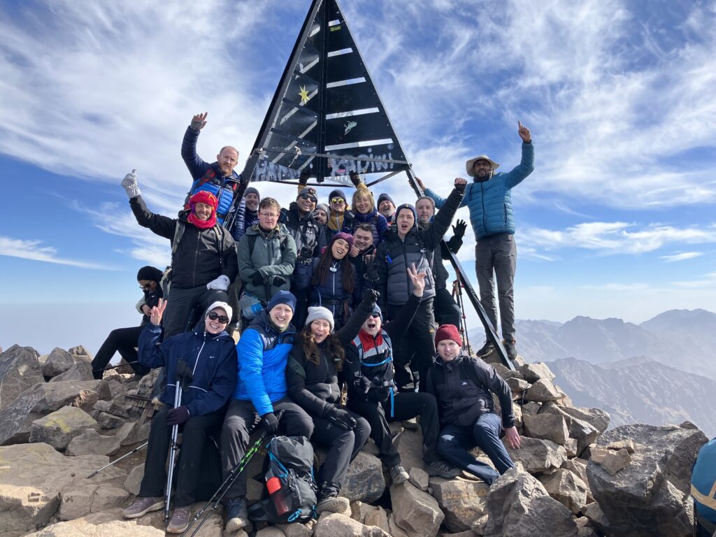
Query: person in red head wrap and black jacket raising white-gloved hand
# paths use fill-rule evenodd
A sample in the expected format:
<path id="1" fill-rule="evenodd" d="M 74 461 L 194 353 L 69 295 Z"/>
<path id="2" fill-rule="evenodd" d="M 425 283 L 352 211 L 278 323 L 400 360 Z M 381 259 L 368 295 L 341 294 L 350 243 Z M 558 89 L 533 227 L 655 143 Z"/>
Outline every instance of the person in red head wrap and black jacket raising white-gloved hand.
<path id="1" fill-rule="evenodd" d="M 172 241 L 171 285 L 166 297 L 164 337 L 185 332 L 197 304 L 228 302 L 226 290 L 236 279 L 238 263 L 231 233 L 216 221 L 216 197 L 206 190 L 191 196 L 189 210 L 168 218 L 147 208 L 137 185 L 137 170 L 127 173 L 122 187 L 130 208 L 143 228 Z"/>

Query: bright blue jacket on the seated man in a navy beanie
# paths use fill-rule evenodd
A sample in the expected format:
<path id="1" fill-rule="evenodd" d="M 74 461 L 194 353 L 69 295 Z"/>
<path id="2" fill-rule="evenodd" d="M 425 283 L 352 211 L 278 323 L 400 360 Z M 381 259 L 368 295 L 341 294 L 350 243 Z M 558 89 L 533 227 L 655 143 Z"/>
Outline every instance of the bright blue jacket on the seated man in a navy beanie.
<path id="1" fill-rule="evenodd" d="M 294 346 L 293 325 L 279 332 L 264 309 L 253 318 L 236 345 L 238 381 L 233 398 L 251 401 L 258 415 L 274 412 L 272 402 L 286 397 L 286 363 Z"/>

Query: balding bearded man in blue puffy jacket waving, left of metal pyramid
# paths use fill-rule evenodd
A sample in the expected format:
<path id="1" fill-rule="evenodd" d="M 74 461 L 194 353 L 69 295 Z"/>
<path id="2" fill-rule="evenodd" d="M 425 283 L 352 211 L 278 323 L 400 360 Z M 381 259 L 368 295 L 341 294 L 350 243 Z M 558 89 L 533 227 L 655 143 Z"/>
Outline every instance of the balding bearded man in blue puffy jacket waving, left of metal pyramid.
<path id="1" fill-rule="evenodd" d="M 233 194 L 241 182 L 241 177 L 233 170 L 238 163 L 238 150 L 231 145 L 222 147 L 216 155 L 216 162 L 211 164 L 196 154 L 196 142 L 199 132 L 206 125 L 206 116 L 207 112 L 204 112 L 191 118 L 191 124 L 186 128 L 181 144 L 181 158 L 184 159 L 193 180 L 185 205 L 191 195 L 200 190 L 208 190 L 218 200 L 216 219 L 223 225 L 224 218 L 233 205 Z"/>

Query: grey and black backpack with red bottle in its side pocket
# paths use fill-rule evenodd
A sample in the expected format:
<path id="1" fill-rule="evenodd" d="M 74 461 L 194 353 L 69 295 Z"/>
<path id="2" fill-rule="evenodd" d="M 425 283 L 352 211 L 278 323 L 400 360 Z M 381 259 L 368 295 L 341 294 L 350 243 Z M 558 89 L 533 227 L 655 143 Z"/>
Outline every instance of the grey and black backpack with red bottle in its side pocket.
<path id="1" fill-rule="evenodd" d="M 281 524 L 315 518 L 318 485 L 313 471 L 314 450 L 309 439 L 275 436 L 269 440 L 266 451 L 269 458 L 264 478 L 270 498 L 251 506 L 251 520 Z"/>

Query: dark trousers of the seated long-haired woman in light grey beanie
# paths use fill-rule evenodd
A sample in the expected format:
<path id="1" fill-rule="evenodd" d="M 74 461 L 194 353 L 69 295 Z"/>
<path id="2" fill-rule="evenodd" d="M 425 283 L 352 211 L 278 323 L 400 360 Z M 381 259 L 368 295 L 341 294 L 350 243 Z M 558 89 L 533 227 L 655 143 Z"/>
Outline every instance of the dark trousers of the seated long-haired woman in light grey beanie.
<path id="1" fill-rule="evenodd" d="M 350 411 L 349 411 L 350 412 Z M 321 498 L 337 496 L 343 487 L 349 463 L 358 455 L 370 435 L 370 425 L 354 412 L 354 430 L 342 430 L 323 417 L 311 416 L 314 422 L 313 442 L 328 448 L 326 460 L 318 473 Z"/>

